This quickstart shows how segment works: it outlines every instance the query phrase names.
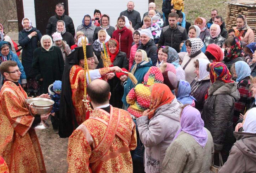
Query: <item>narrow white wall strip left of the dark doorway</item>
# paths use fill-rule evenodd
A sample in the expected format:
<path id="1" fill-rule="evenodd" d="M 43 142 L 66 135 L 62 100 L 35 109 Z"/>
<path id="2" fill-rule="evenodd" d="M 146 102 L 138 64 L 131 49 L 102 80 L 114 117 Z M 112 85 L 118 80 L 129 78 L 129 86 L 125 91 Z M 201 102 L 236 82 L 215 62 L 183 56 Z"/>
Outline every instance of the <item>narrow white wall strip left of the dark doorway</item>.
<path id="1" fill-rule="evenodd" d="M 36 12 L 34 0 L 23 0 L 24 17 L 32 21 L 32 26 L 36 27 Z"/>

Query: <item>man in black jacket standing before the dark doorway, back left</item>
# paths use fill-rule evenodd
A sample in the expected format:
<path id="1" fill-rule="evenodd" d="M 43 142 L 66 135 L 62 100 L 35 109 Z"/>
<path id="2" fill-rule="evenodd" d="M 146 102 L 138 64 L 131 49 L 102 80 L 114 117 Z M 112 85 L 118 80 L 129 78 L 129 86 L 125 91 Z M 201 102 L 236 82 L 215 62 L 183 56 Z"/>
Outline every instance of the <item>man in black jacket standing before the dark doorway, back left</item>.
<path id="1" fill-rule="evenodd" d="M 46 34 L 47 35 L 52 35 L 52 33 L 56 32 L 56 25 L 57 21 L 62 20 L 65 22 L 66 25 L 66 31 L 71 33 L 73 37 L 75 36 L 75 27 L 73 20 L 71 17 L 67 16 L 64 14 L 65 9 L 63 4 L 57 4 L 55 7 L 55 15 L 51 16 L 50 19 L 48 20 L 47 27 L 46 27 Z"/>

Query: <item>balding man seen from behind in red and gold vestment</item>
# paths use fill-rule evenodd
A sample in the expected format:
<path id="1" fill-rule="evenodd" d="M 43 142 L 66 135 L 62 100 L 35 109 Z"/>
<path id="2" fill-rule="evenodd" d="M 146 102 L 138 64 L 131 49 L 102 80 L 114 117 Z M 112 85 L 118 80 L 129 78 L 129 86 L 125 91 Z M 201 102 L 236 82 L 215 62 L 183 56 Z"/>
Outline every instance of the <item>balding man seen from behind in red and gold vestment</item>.
<path id="1" fill-rule="evenodd" d="M 135 123 L 127 111 L 109 105 L 107 82 L 95 79 L 87 91 L 94 110 L 69 137 L 68 173 L 133 173 Z"/>

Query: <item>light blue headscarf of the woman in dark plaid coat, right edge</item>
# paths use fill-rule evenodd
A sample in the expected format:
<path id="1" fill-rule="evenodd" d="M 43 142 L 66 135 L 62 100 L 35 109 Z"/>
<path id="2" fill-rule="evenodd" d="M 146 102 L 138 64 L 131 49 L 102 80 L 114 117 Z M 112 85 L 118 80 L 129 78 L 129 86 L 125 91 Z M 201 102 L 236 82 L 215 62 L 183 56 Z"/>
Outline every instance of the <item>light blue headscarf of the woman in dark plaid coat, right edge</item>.
<path id="1" fill-rule="evenodd" d="M 237 61 L 235 63 L 235 72 L 237 73 L 237 82 L 240 82 L 245 77 L 251 75 L 251 68 L 244 61 Z"/>

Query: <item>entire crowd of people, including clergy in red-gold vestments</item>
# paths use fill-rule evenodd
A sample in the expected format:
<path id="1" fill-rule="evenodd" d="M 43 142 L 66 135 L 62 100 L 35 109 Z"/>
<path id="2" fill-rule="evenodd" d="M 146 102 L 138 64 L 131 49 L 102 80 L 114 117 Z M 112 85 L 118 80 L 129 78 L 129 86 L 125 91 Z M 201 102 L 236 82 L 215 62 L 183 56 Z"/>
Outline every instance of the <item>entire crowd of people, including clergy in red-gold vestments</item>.
<path id="1" fill-rule="evenodd" d="M 191 24 L 183 0 L 165 0 L 163 14 L 148 7 L 141 20 L 129 1 L 115 26 L 95 9 L 75 30 L 57 4 L 47 35 L 25 17 L 21 61 L 0 24 L 0 173 L 46 173 L 33 128 L 49 116 L 69 137 L 69 173 L 256 172 L 246 16 L 227 30 L 217 9 Z M 52 111 L 32 116 L 31 96 L 52 99 Z"/>

